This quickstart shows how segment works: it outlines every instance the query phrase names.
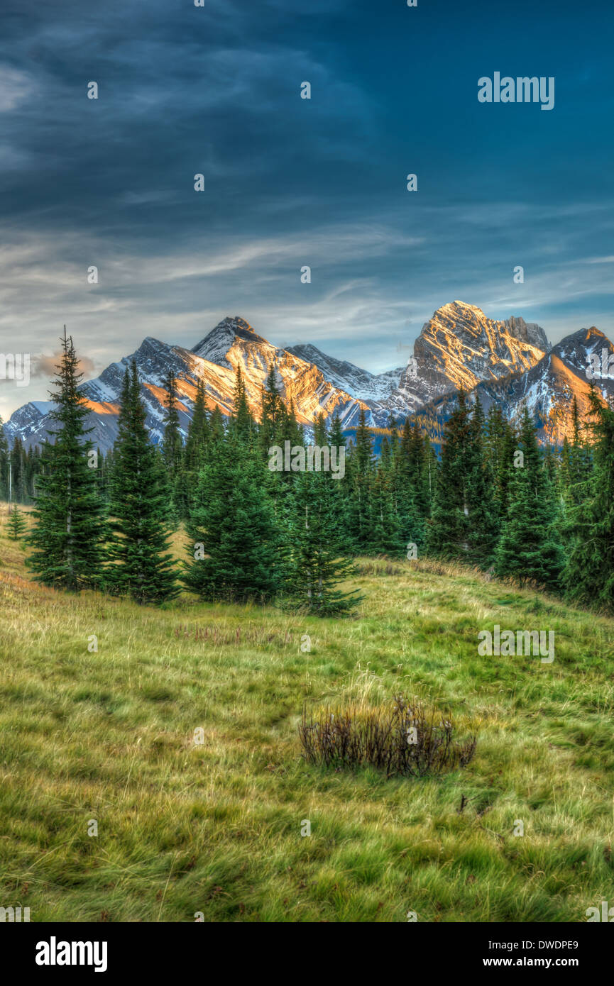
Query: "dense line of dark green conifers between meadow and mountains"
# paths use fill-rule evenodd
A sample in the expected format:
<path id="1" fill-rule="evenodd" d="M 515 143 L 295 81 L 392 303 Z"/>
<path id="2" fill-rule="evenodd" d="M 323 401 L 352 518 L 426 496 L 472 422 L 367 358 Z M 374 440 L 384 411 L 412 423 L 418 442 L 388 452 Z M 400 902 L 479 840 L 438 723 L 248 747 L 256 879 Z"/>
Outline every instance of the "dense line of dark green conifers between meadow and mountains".
<path id="1" fill-rule="evenodd" d="M 169 376 L 163 440 L 154 445 L 133 363 L 115 446 L 102 457 L 88 441 L 72 339 L 64 335 L 62 347 L 51 393 L 58 427 L 31 457 L 38 471 L 28 564 L 46 585 L 147 603 L 174 599 L 183 586 L 201 599 L 275 601 L 326 615 L 359 601 L 341 588 L 356 556 L 426 555 L 614 608 L 614 411 L 595 390 L 587 420 L 574 401 L 573 436 L 558 450 L 540 448 L 526 406 L 516 428 L 500 408 L 485 415 L 479 397 L 470 404 L 461 390 L 439 457 L 416 422 L 393 418 L 376 457 L 361 411 L 340 479 L 269 468 L 271 447 L 306 444 L 272 367 L 258 419 L 240 368 L 226 421 L 198 384 L 185 443 Z M 318 417 L 313 433 L 320 448 L 346 446 L 338 416 Z M 0 446 L 0 465 L 14 453 Z M 180 564 L 170 551 L 178 529 L 188 542 Z"/>

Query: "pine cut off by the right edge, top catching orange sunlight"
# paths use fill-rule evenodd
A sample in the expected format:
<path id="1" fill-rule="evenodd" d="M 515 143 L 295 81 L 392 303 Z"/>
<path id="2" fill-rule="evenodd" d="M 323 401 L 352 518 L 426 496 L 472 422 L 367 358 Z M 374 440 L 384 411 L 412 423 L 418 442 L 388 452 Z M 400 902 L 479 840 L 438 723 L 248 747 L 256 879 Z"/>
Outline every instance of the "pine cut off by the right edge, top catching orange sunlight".
<path id="1" fill-rule="evenodd" d="M 614 410 L 594 387 L 589 394 L 593 469 L 569 509 L 570 548 L 563 582 L 567 598 L 614 611 Z"/>

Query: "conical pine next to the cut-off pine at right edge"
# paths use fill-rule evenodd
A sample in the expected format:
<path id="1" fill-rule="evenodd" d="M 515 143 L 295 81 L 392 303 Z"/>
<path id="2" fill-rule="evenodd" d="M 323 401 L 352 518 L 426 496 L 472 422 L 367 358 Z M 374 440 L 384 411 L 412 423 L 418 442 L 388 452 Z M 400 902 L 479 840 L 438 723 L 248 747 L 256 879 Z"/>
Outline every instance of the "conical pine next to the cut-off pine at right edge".
<path id="1" fill-rule="evenodd" d="M 523 463 L 513 469 L 509 509 L 501 529 L 495 568 L 499 576 L 557 589 L 564 557 L 556 493 L 544 468 L 526 404 L 519 444 Z"/>

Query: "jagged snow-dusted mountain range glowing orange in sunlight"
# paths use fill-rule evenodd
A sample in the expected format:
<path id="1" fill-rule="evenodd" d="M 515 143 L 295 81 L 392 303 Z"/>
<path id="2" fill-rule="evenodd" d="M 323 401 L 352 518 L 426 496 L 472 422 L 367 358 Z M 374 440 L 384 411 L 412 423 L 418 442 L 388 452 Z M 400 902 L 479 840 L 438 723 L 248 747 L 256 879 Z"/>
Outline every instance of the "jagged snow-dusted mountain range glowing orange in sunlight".
<path id="1" fill-rule="evenodd" d="M 431 431 L 439 431 L 451 412 L 459 387 L 469 400 L 480 393 L 485 409 L 499 404 L 517 419 L 526 400 L 538 422 L 540 439 L 560 443 L 571 434 L 571 407 L 576 396 L 580 411 L 587 406 L 586 367 L 593 353 L 614 346 L 597 328 L 579 329 L 552 347 L 541 326 L 521 317 L 497 321 L 475 305 L 454 301 L 422 326 L 414 355 L 405 367 L 371 374 L 345 360 L 328 356 L 313 345 L 279 348 L 242 317 L 226 317 L 192 349 L 171 346 L 147 337 L 138 349 L 112 363 L 82 391 L 90 414 L 90 438 L 103 451 L 115 441 L 119 394 L 126 368 L 136 362 L 146 423 L 152 439 L 163 434 L 163 380 L 173 371 L 178 381 L 180 426 L 187 434 L 198 380 L 209 408 L 231 413 L 237 367 L 241 367 L 251 410 L 260 416 L 262 391 L 269 368 L 299 423 L 307 428 L 318 414 L 339 414 L 345 429 L 355 427 L 360 410 L 367 423 L 383 428 L 391 415 L 397 420 L 416 415 Z M 604 396 L 614 394 L 614 381 L 598 381 Z M 19 437 L 28 448 L 40 444 L 52 430 L 50 401 L 31 401 L 16 410 L 4 425 L 9 442 Z"/>

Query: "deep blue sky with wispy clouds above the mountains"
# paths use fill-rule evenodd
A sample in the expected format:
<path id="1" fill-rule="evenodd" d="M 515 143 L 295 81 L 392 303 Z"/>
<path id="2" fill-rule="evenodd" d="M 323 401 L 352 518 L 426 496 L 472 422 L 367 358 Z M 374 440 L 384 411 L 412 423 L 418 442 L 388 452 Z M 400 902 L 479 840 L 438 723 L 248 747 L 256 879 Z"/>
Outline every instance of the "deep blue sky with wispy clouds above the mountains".
<path id="1" fill-rule="evenodd" d="M 0 415 L 64 324 L 89 378 L 226 316 L 372 372 L 456 299 L 614 338 L 613 48 L 609 0 L 3 0 Z"/>

